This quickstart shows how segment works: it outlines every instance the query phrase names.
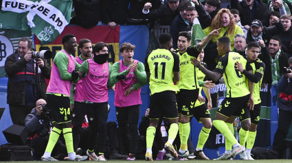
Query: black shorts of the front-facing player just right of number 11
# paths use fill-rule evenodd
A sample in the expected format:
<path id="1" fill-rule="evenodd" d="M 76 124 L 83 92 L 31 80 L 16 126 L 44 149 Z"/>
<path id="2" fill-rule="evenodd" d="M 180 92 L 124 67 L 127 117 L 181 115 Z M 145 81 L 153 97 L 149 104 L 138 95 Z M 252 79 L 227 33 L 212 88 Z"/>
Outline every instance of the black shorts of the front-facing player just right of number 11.
<path id="1" fill-rule="evenodd" d="M 181 89 L 177 93 L 177 108 L 183 116 L 192 116 L 194 105 L 199 96 L 199 89 L 184 90 Z"/>

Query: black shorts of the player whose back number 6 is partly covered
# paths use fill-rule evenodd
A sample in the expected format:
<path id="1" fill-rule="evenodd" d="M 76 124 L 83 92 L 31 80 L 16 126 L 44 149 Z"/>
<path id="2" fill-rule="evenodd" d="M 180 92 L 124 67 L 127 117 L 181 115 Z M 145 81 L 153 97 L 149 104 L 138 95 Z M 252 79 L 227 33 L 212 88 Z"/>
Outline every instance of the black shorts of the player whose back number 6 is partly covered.
<path id="1" fill-rule="evenodd" d="M 240 116 L 241 113 L 249 113 L 249 108 L 247 108 L 247 101 L 249 100 L 249 95 L 244 97 L 225 97 L 222 103 L 219 105 L 217 112 L 223 116 Z M 250 118 L 250 114 L 246 117 Z"/>

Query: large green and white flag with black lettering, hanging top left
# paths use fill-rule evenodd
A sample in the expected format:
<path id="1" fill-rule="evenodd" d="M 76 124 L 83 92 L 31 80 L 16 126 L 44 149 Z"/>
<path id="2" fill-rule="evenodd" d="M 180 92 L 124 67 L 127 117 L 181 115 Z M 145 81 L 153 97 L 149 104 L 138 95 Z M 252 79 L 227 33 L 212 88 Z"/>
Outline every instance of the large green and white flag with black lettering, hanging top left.
<path id="1" fill-rule="evenodd" d="M 0 28 L 31 28 L 41 44 L 47 45 L 69 24 L 71 8 L 72 0 L 3 0 Z"/>

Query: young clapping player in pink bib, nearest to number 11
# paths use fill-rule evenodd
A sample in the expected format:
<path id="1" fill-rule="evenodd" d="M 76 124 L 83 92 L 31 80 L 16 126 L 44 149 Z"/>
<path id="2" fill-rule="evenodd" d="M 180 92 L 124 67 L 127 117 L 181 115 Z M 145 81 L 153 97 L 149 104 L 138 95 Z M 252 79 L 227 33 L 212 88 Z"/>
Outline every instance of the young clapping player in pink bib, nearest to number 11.
<path id="1" fill-rule="evenodd" d="M 115 82 L 115 112 L 122 144 L 128 151 L 127 160 L 134 161 L 138 142 L 139 110 L 142 104 L 141 87 L 147 84 L 144 64 L 133 59 L 135 45 L 124 42 L 122 60 L 113 64 Z"/>

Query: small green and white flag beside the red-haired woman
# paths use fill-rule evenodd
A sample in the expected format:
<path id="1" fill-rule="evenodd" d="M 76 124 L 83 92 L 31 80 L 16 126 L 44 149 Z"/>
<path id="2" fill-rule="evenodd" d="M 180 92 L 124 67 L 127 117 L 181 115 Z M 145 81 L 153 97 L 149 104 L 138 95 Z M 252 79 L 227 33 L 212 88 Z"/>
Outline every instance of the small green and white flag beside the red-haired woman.
<path id="1" fill-rule="evenodd" d="M 201 24 L 199 22 L 198 18 L 194 18 L 194 21 L 192 23 L 192 41 L 191 45 L 197 45 L 201 40 L 206 36 L 205 32 L 203 32 L 203 29 L 201 27 Z"/>

